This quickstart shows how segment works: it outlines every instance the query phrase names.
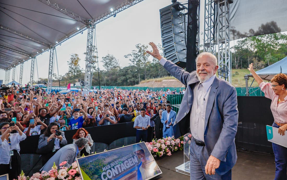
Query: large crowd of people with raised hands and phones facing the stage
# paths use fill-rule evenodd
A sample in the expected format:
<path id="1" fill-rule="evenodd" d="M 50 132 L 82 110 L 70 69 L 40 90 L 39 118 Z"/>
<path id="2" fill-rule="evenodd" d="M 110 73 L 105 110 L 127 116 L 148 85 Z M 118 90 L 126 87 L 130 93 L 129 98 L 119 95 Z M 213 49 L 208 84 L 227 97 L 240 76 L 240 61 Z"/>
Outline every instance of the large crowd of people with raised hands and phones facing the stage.
<path id="1" fill-rule="evenodd" d="M 184 90 L 153 92 L 115 88 L 95 89 L 89 94 L 82 91 L 47 94 L 44 88 L 2 85 L 0 92 L 0 167 L 5 167 L 0 168 L 0 174 L 6 172 L 7 168 L 11 169 L 12 164 L 15 166 L 11 170 L 14 176 L 9 177 L 13 179 L 20 173 L 19 143 L 27 136 L 40 135 L 37 153 L 41 154 L 44 166 L 59 149 L 67 145 L 66 130 L 77 129 L 73 136 L 74 143 L 81 138 L 88 140 L 77 156 L 90 154 L 93 140 L 85 129 L 88 127 L 135 121 L 137 142 L 150 142 L 154 138 L 170 135 L 175 113 L 166 97 L 167 94 L 183 94 Z M 162 116 L 165 110 L 167 113 Z M 168 118 L 170 112 L 172 115 Z M 141 117 L 145 117 L 145 125 Z M 9 135 L 14 131 L 17 131 L 15 135 Z M 10 161 L 15 157 L 12 154 L 17 155 L 15 162 Z"/>

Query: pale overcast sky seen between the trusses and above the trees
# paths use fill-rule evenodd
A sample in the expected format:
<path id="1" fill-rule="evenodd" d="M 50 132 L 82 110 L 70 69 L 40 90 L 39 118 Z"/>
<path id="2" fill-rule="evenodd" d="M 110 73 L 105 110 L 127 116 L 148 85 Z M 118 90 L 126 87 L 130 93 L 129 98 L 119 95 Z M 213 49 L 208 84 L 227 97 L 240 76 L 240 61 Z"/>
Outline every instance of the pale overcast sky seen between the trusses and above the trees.
<path id="1" fill-rule="evenodd" d="M 187 1 L 178 1 L 187 3 Z M 118 13 L 116 17 L 110 17 L 96 25 L 96 41 L 98 48 L 99 67 L 103 69 L 102 57 L 108 53 L 119 59 L 120 66 L 129 65 L 129 60 L 124 56 L 135 50 L 138 43 L 148 44 L 150 41 L 161 43 L 160 34 L 160 14 L 159 10 L 171 4 L 171 0 L 144 0 L 132 7 Z M 203 31 L 204 1 L 201 2 L 201 23 L 200 31 Z M 85 55 L 87 46 L 87 30 L 83 34 L 68 39 L 61 46 L 56 46 L 59 75 L 64 75 L 68 71 L 67 61 L 73 53 L 79 54 L 80 66 L 85 69 Z M 201 40 L 202 43 L 203 40 Z M 151 48 L 150 48 L 151 50 Z M 36 57 L 38 72 L 35 63 L 34 80 L 48 77 L 49 52 Z M 22 84 L 30 81 L 31 60 L 24 62 Z M 57 74 L 57 63 L 54 63 L 54 73 Z M 19 82 L 20 65 L 16 67 L 15 81 Z M 5 71 L 0 70 L 0 79 L 5 79 Z M 12 70 L 10 79 L 12 80 Z"/>

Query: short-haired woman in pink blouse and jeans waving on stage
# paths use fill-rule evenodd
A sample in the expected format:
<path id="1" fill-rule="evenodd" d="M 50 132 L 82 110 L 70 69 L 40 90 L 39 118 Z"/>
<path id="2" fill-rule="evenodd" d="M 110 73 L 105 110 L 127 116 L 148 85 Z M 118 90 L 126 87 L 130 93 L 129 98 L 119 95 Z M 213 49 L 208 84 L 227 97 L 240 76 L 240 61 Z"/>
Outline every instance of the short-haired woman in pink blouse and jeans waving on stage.
<path id="1" fill-rule="evenodd" d="M 271 112 L 274 117 L 273 127 L 278 128 L 278 133 L 285 135 L 287 129 L 287 76 L 279 73 L 271 79 L 271 83 L 263 82 L 261 77 L 253 70 L 253 63 L 249 64 L 248 70 L 253 75 L 265 97 L 272 100 Z M 287 148 L 272 143 L 275 155 L 275 179 L 287 179 Z"/>

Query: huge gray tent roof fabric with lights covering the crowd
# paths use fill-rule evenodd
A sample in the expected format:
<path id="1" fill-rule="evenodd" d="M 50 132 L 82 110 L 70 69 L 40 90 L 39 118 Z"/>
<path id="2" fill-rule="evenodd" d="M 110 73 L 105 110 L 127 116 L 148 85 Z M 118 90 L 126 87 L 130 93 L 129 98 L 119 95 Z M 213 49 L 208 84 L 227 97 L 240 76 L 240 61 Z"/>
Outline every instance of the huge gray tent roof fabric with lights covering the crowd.
<path id="1" fill-rule="evenodd" d="M 11 69 L 140 1 L 2 0 L 0 69 Z"/>

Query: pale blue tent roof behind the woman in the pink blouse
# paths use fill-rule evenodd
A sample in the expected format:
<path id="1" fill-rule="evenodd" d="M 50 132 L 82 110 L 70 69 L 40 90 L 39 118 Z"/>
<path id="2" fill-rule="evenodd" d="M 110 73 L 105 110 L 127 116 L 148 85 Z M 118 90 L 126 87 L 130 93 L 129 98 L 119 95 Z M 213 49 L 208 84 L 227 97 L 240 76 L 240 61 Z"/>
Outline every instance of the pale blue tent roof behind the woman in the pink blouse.
<path id="1" fill-rule="evenodd" d="M 280 68 L 281 67 L 281 68 Z M 256 73 L 264 80 L 270 81 L 274 75 L 281 72 L 287 75 L 287 56 L 280 61 L 265 67 Z M 252 74 L 248 74 L 248 76 L 253 77 Z"/>

